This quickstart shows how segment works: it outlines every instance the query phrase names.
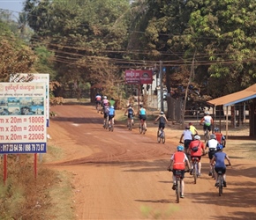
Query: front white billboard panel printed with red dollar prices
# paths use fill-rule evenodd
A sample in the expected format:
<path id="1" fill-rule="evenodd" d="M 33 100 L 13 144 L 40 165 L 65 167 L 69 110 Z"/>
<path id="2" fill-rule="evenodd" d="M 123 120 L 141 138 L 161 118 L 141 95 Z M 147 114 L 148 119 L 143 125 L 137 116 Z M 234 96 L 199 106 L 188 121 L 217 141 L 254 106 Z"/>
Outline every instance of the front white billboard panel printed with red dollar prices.
<path id="1" fill-rule="evenodd" d="M 46 152 L 45 84 L 0 84 L 0 154 Z"/>

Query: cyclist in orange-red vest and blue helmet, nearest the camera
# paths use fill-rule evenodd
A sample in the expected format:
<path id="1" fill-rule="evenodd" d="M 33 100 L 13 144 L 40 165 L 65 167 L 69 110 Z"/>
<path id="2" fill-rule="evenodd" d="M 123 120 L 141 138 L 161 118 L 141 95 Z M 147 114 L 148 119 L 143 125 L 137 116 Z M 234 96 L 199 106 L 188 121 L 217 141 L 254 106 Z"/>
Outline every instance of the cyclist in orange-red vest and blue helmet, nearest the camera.
<path id="1" fill-rule="evenodd" d="M 183 152 L 184 150 L 184 146 L 178 145 L 177 146 L 177 152 L 175 152 L 170 160 L 169 160 L 169 165 L 167 166 L 167 170 L 170 170 L 171 165 L 173 164 L 173 175 L 172 175 L 172 180 L 173 180 L 173 186 L 172 189 L 175 190 L 176 189 L 176 177 L 175 174 L 177 172 L 177 170 L 181 170 L 181 180 L 182 180 L 182 186 L 181 186 L 181 198 L 184 198 L 184 168 L 185 165 L 187 165 L 188 169 L 190 170 L 190 164 L 188 161 L 188 158 L 186 157 L 186 155 Z"/>

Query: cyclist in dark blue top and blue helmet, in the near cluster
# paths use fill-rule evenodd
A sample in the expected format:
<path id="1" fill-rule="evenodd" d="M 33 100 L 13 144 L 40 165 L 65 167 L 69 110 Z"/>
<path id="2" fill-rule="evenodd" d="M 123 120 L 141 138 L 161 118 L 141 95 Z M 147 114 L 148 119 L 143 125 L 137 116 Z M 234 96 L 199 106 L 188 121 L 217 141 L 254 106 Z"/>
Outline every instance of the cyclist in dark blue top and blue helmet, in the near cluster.
<path id="1" fill-rule="evenodd" d="M 211 163 L 212 165 L 214 165 L 215 163 L 215 172 L 222 172 L 223 175 L 223 187 L 227 187 L 227 182 L 226 182 L 226 165 L 225 165 L 225 159 L 228 160 L 229 165 L 231 165 L 230 163 L 230 158 L 228 157 L 228 155 L 224 152 L 222 152 L 223 150 L 223 146 L 222 144 L 219 144 L 217 146 L 217 152 L 215 153 L 214 158 L 212 158 Z M 215 187 L 219 186 L 219 182 L 218 179 L 216 178 L 216 182 L 215 182 Z"/>

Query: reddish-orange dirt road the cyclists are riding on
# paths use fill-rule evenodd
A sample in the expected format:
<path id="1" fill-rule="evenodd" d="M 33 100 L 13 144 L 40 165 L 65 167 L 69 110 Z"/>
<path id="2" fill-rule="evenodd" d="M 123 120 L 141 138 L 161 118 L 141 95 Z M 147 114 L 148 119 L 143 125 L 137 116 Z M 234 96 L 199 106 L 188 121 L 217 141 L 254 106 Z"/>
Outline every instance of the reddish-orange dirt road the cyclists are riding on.
<path id="1" fill-rule="evenodd" d="M 137 124 L 131 132 L 118 121 L 109 132 L 94 106 L 51 111 L 57 116 L 50 120 L 50 143 L 64 150 L 64 160 L 51 165 L 76 173 L 77 219 L 256 219 L 255 161 L 231 158 L 220 197 L 207 176 L 208 159 L 202 158 L 202 177 L 195 185 L 185 174 L 185 198 L 177 204 L 166 167 L 178 140 L 156 143 L 155 126 L 143 136 Z M 166 136 L 171 135 L 168 127 Z"/>

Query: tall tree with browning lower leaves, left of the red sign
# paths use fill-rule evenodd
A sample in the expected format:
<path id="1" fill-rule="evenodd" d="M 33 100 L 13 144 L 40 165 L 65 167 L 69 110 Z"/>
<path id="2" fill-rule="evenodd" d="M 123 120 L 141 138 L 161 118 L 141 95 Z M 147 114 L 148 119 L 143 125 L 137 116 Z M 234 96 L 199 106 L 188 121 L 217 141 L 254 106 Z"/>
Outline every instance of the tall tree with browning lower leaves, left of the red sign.
<path id="1" fill-rule="evenodd" d="M 124 12 L 129 11 L 129 1 L 26 0 L 25 11 L 34 39 L 54 52 L 61 83 L 76 88 L 77 82 L 105 83 L 99 74 L 121 77 L 112 67 L 122 58 L 118 51 L 126 45 Z"/>

